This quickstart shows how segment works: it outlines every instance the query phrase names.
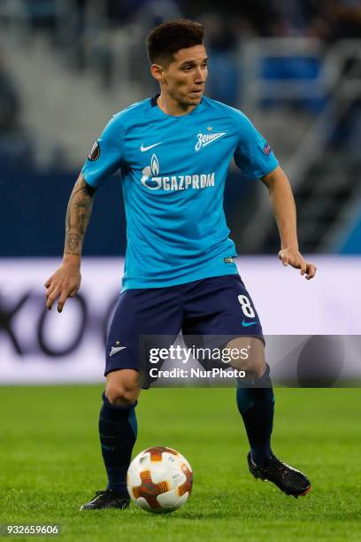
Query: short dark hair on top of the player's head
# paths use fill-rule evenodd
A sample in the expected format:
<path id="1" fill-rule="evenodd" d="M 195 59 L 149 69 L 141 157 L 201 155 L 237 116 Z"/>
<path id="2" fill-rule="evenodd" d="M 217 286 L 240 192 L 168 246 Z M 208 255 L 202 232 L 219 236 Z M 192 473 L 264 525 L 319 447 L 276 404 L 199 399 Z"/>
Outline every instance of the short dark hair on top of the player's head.
<path id="1" fill-rule="evenodd" d="M 190 19 L 166 20 L 153 28 L 147 37 L 147 51 L 150 62 L 160 58 L 172 58 L 180 49 L 203 45 L 204 26 Z"/>

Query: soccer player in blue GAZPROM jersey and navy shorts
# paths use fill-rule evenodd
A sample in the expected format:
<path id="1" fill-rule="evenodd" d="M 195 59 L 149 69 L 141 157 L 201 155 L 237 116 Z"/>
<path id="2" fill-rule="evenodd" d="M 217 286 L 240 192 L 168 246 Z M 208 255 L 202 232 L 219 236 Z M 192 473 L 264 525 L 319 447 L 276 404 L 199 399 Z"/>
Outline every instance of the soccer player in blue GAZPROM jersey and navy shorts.
<path id="1" fill-rule="evenodd" d="M 74 185 L 66 214 L 61 267 L 45 283 L 47 307 L 81 284 L 81 247 L 96 190 L 122 175 L 127 255 L 119 305 L 105 352 L 106 388 L 99 435 L 107 489 L 81 509 L 129 505 L 127 468 L 137 433 L 141 392 L 139 337 L 183 334 L 231 336 L 228 347 L 251 345 L 248 360 L 233 360 L 253 386 L 238 384 L 237 406 L 250 441 L 248 464 L 256 478 L 298 497 L 311 489 L 300 471 L 275 457 L 273 387 L 262 328 L 237 268 L 223 211 L 231 159 L 244 177 L 269 190 L 280 231 L 279 258 L 311 279 L 316 267 L 298 251 L 296 209 L 286 174 L 242 112 L 204 97 L 204 28 L 187 19 L 167 21 L 147 39 L 150 72 L 160 94 L 130 105 L 104 128 Z M 249 380 L 250 382 L 250 380 Z"/>

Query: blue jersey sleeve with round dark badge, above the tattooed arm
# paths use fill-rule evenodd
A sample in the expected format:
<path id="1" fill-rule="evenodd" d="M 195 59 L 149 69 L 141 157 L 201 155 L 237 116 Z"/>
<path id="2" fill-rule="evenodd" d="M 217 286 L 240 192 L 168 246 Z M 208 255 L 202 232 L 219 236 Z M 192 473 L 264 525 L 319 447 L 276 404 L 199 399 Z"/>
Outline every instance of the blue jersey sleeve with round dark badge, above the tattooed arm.
<path id="1" fill-rule="evenodd" d="M 102 136 L 94 143 L 81 174 L 88 184 L 98 187 L 113 174 L 123 158 L 124 128 L 118 117 L 113 117 Z"/>

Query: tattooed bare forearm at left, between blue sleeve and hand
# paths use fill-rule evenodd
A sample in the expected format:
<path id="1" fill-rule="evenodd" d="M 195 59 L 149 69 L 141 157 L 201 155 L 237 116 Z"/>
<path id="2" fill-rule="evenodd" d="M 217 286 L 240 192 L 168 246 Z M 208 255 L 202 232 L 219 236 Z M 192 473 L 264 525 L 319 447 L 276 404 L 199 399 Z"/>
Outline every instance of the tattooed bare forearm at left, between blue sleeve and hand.
<path id="1" fill-rule="evenodd" d="M 90 220 L 96 189 L 82 175 L 75 182 L 65 221 L 65 254 L 81 255 L 84 236 Z"/>

